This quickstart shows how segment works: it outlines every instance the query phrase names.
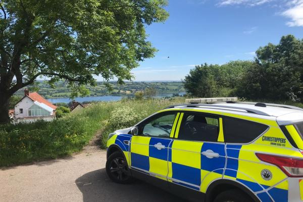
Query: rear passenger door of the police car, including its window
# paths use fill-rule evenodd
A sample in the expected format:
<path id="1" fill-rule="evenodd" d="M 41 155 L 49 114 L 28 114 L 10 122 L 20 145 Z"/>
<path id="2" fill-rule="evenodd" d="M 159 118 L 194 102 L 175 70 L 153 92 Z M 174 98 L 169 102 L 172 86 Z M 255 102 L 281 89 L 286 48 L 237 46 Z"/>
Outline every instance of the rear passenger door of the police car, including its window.
<path id="1" fill-rule="evenodd" d="M 169 149 L 171 188 L 177 184 L 205 193 L 210 182 L 222 179 L 225 162 L 222 118 L 199 112 L 181 113 Z"/>

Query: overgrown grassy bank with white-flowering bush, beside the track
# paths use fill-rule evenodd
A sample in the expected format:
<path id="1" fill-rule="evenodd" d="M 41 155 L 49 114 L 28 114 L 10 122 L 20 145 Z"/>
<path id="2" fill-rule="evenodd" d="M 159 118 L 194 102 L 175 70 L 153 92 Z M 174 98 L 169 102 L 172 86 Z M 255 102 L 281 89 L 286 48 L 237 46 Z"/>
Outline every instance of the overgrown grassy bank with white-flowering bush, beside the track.
<path id="1" fill-rule="evenodd" d="M 103 146 L 107 135 L 169 105 L 172 100 L 122 100 L 97 103 L 53 122 L 0 125 L 0 166 L 18 165 L 70 155 L 82 149 L 97 130 L 102 130 Z"/>

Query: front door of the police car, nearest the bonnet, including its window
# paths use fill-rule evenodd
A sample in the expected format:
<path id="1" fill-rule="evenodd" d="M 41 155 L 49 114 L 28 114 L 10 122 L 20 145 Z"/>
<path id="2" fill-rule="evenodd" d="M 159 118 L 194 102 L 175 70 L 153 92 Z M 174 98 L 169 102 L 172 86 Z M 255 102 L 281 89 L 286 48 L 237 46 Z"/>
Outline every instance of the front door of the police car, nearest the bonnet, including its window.
<path id="1" fill-rule="evenodd" d="M 179 115 L 178 112 L 159 113 L 137 125 L 138 135 L 134 135 L 130 143 L 131 169 L 134 173 L 167 181 L 168 146 Z"/>

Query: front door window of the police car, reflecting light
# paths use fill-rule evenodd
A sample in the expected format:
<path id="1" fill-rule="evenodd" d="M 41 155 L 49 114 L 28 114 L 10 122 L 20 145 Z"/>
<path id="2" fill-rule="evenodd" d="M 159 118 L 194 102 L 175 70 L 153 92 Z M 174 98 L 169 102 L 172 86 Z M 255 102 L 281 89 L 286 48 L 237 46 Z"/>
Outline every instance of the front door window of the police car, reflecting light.
<path id="1" fill-rule="evenodd" d="M 155 136 L 155 137 L 169 137 L 176 113 L 164 113 L 151 117 L 142 125 L 139 126 L 139 135 Z"/>

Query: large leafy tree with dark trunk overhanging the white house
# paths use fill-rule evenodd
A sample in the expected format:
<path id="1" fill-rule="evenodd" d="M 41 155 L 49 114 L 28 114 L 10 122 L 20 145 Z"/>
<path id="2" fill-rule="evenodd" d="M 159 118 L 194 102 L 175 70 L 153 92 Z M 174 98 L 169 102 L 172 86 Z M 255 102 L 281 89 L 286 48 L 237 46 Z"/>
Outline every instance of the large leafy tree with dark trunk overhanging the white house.
<path id="1" fill-rule="evenodd" d="M 163 22 L 166 0 L 1 0 L 0 123 L 9 98 L 40 76 L 63 79 L 76 96 L 93 75 L 119 83 L 154 56 L 145 25 Z M 14 79 L 15 78 L 15 79 Z M 85 92 L 85 91 L 84 91 Z"/>

